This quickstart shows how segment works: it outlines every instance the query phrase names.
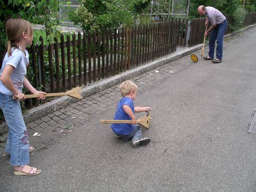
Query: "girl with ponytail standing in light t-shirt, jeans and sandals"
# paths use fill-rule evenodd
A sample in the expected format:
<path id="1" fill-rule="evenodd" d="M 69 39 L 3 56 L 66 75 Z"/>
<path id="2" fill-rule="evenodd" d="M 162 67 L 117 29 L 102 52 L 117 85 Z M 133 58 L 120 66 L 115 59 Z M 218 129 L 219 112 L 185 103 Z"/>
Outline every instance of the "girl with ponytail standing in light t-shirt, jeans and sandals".
<path id="1" fill-rule="evenodd" d="M 8 124 L 8 138 L 5 152 L 10 154 L 10 164 L 15 175 L 33 176 L 41 173 L 40 169 L 29 166 L 29 152 L 35 148 L 29 146 L 28 132 L 22 116 L 20 103 L 25 99 L 21 92 L 26 87 L 32 94 L 41 94 L 25 77 L 29 64 L 27 45 L 32 44 L 33 29 L 24 19 L 8 19 L 5 23 L 8 38 L 6 53 L 0 69 L 0 109 Z M 12 99 L 12 96 L 18 100 Z"/>

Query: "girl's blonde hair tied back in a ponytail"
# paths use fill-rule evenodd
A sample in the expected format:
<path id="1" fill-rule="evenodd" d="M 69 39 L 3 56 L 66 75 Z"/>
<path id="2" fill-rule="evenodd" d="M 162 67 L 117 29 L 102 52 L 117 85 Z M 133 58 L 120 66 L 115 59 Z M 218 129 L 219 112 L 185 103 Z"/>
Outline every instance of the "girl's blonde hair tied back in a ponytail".
<path id="1" fill-rule="evenodd" d="M 5 48 L 5 53 L 8 53 L 8 57 L 11 56 L 11 48 L 19 48 L 18 42 L 22 40 L 22 33 L 30 32 L 33 33 L 31 23 L 25 19 L 21 18 L 11 18 L 5 23 L 5 33 L 8 39 L 7 46 Z"/>

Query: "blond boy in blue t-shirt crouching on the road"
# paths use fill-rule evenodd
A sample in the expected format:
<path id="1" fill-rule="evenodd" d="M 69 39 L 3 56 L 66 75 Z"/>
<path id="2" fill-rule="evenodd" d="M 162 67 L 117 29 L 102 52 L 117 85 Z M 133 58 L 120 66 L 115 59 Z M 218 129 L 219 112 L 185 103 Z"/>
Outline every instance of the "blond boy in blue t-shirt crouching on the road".
<path id="1" fill-rule="evenodd" d="M 120 91 L 123 98 L 119 101 L 115 120 L 131 120 L 132 123 L 115 123 L 111 128 L 117 137 L 126 141 L 131 139 L 134 148 L 146 145 L 150 142 L 149 138 L 142 138 L 142 128 L 136 124 L 134 112 L 147 112 L 150 107 L 134 107 L 133 100 L 136 98 L 138 87 L 130 80 L 126 80 L 120 85 Z"/>

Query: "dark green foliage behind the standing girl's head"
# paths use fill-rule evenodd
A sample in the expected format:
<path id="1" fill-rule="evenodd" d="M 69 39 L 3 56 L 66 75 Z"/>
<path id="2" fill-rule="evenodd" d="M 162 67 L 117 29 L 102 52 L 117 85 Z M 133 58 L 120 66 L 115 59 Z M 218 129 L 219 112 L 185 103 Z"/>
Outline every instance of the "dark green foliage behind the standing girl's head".
<path id="1" fill-rule="evenodd" d="M 59 0 L 0 0 L 0 50 L 5 48 L 4 23 L 8 18 L 23 18 L 45 26 L 48 43 L 57 36 Z M 38 37 L 39 38 L 39 37 Z M 39 39 L 34 39 L 40 43 Z"/>

